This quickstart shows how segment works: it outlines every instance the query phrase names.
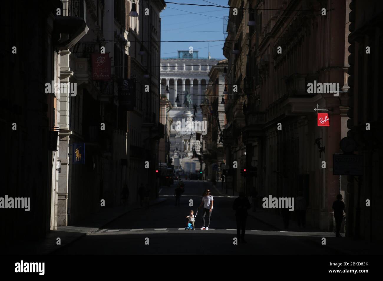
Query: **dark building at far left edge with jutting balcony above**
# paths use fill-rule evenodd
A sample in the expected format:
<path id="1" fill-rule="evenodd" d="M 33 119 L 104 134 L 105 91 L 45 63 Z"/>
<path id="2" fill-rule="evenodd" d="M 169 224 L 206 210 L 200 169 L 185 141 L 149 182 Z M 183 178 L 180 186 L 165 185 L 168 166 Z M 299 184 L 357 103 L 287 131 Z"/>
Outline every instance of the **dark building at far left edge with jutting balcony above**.
<path id="1" fill-rule="evenodd" d="M 2 7 L 7 47 L 1 55 L 11 72 L 2 82 L 5 91 L 13 93 L 2 96 L 5 108 L 0 120 L 7 136 L 5 147 L 12 151 L 2 174 L 2 190 L 8 197 L 31 200 L 29 211 L 2 211 L 0 235 L 8 241 L 41 239 L 57 227 L 60 80 L 69 49 L 88 32 L 85 20 L 76 15 L 68 17 L 63 4 L 40 1 L 31 6 L 28 1 L 20 1 Z M 22 24 L 25 22 L 28 24 Z"/>

